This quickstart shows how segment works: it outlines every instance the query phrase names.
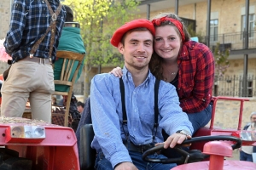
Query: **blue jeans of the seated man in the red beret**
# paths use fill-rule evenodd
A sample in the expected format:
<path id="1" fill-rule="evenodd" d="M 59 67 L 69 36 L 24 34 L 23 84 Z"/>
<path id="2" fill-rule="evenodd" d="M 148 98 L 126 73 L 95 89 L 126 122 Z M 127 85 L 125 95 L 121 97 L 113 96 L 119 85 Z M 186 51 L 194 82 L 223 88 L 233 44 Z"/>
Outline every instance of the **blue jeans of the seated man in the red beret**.
<path id="1" fill-rule="evenodd" d="M 172 167 L 176 167 L 175 163 L 170 164 L 161 164 L 161 163 L 149 163 L 143 161 L 143 154 L 140 152 L 129 151 L 131 156 L 132 163 L 139 169 L 139 170 L 169 170 Z M 152 156 L 148 156 L 150 158 L 157 158 L 157 159 L 164 159 L 166 156 L 154 154 Z M 113 167 L 108 161 L 105 156 L 103 155 L 102 151 L 97 154 L 96 157 L 96 164 L 95 168 L 97 170 L 113 170 Z"/>

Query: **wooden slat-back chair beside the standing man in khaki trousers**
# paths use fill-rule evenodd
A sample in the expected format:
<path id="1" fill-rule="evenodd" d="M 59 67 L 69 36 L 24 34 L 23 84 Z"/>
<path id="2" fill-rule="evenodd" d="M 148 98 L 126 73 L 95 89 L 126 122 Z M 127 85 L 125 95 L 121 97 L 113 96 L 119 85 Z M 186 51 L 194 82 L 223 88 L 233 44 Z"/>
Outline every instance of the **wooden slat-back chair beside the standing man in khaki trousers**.
<path id="1" fill-rule="evenodd" d="M 68 113 L 69 113 L 72 92 L 73 92 L 73 85 L 76 81 L 80 65 L 84 60 L 84 54 L 74 53 L 71 51 L 57 51 L 56 57 L 59 59 L 63 59 L 63 64 L 61 67 L 61 77 L 58 80 L 55 79 L 55 85 L 65 85 L 69 89 L 65 92 L 55 90 L 55 93 L 53 95 L 67 95 L 67 105 L 66 105 L 66 111 L 64 116 L 64 126 L 67 127 Z M 76 61 L 78 61 L 79 64 L 77 65 L 74 73 L 72 74 L 73 65 Z"/>

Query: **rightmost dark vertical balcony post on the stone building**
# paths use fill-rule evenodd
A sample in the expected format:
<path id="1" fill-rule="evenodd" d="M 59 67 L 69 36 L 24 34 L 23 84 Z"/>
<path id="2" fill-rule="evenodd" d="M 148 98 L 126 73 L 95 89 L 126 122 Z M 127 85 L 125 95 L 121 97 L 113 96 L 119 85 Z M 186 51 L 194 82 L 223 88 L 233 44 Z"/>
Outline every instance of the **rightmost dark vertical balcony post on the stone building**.
<path id="1" fill-rule="evenodd" d="M 250 1 L 246 0 L 246 27 L 245 27 L 245 46 L 244 48 L 248 48 L 248 39 L 249 39 L 249 7 Z M 242 97 L 247 97 L 247 71 L 248 71 L 248 54 L 244 54 L 243 59 L 243 82 L 242 82 Z"/>

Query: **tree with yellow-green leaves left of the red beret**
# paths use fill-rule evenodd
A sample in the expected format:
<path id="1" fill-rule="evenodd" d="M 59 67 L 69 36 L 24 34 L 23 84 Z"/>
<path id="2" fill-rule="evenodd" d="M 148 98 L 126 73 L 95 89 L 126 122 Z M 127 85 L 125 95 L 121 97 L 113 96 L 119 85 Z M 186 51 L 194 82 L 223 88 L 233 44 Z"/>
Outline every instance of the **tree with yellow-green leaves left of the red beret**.
<path id="1" fill-rule="evenodd" d="M 84 97 L 87 97 L 92 66 L 123 63 L 122 56 L 109 40 L 113 31 L 133 18 L 138 3 L 136 0 L 66 0 L 65 4 L 73 8 L 86 48 Z"/>

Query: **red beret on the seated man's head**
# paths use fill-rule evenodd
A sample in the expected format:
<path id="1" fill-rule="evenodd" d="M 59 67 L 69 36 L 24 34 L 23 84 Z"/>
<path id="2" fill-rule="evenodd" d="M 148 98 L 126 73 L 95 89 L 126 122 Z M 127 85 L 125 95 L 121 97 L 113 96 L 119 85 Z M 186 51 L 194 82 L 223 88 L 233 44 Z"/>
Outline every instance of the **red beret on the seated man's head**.
<path id="1" fill-rule="evenodd" d="M 127 31 L 130 31 L 134 28 L 147 28 L 154 36 L 154 25 L 146 19 L 131 20 L 131 22 L 125 23 L 124 26 L 119 27 L 111 38 L 110 42 L 114 47 L 118 47 L 119 42 Z"/>

